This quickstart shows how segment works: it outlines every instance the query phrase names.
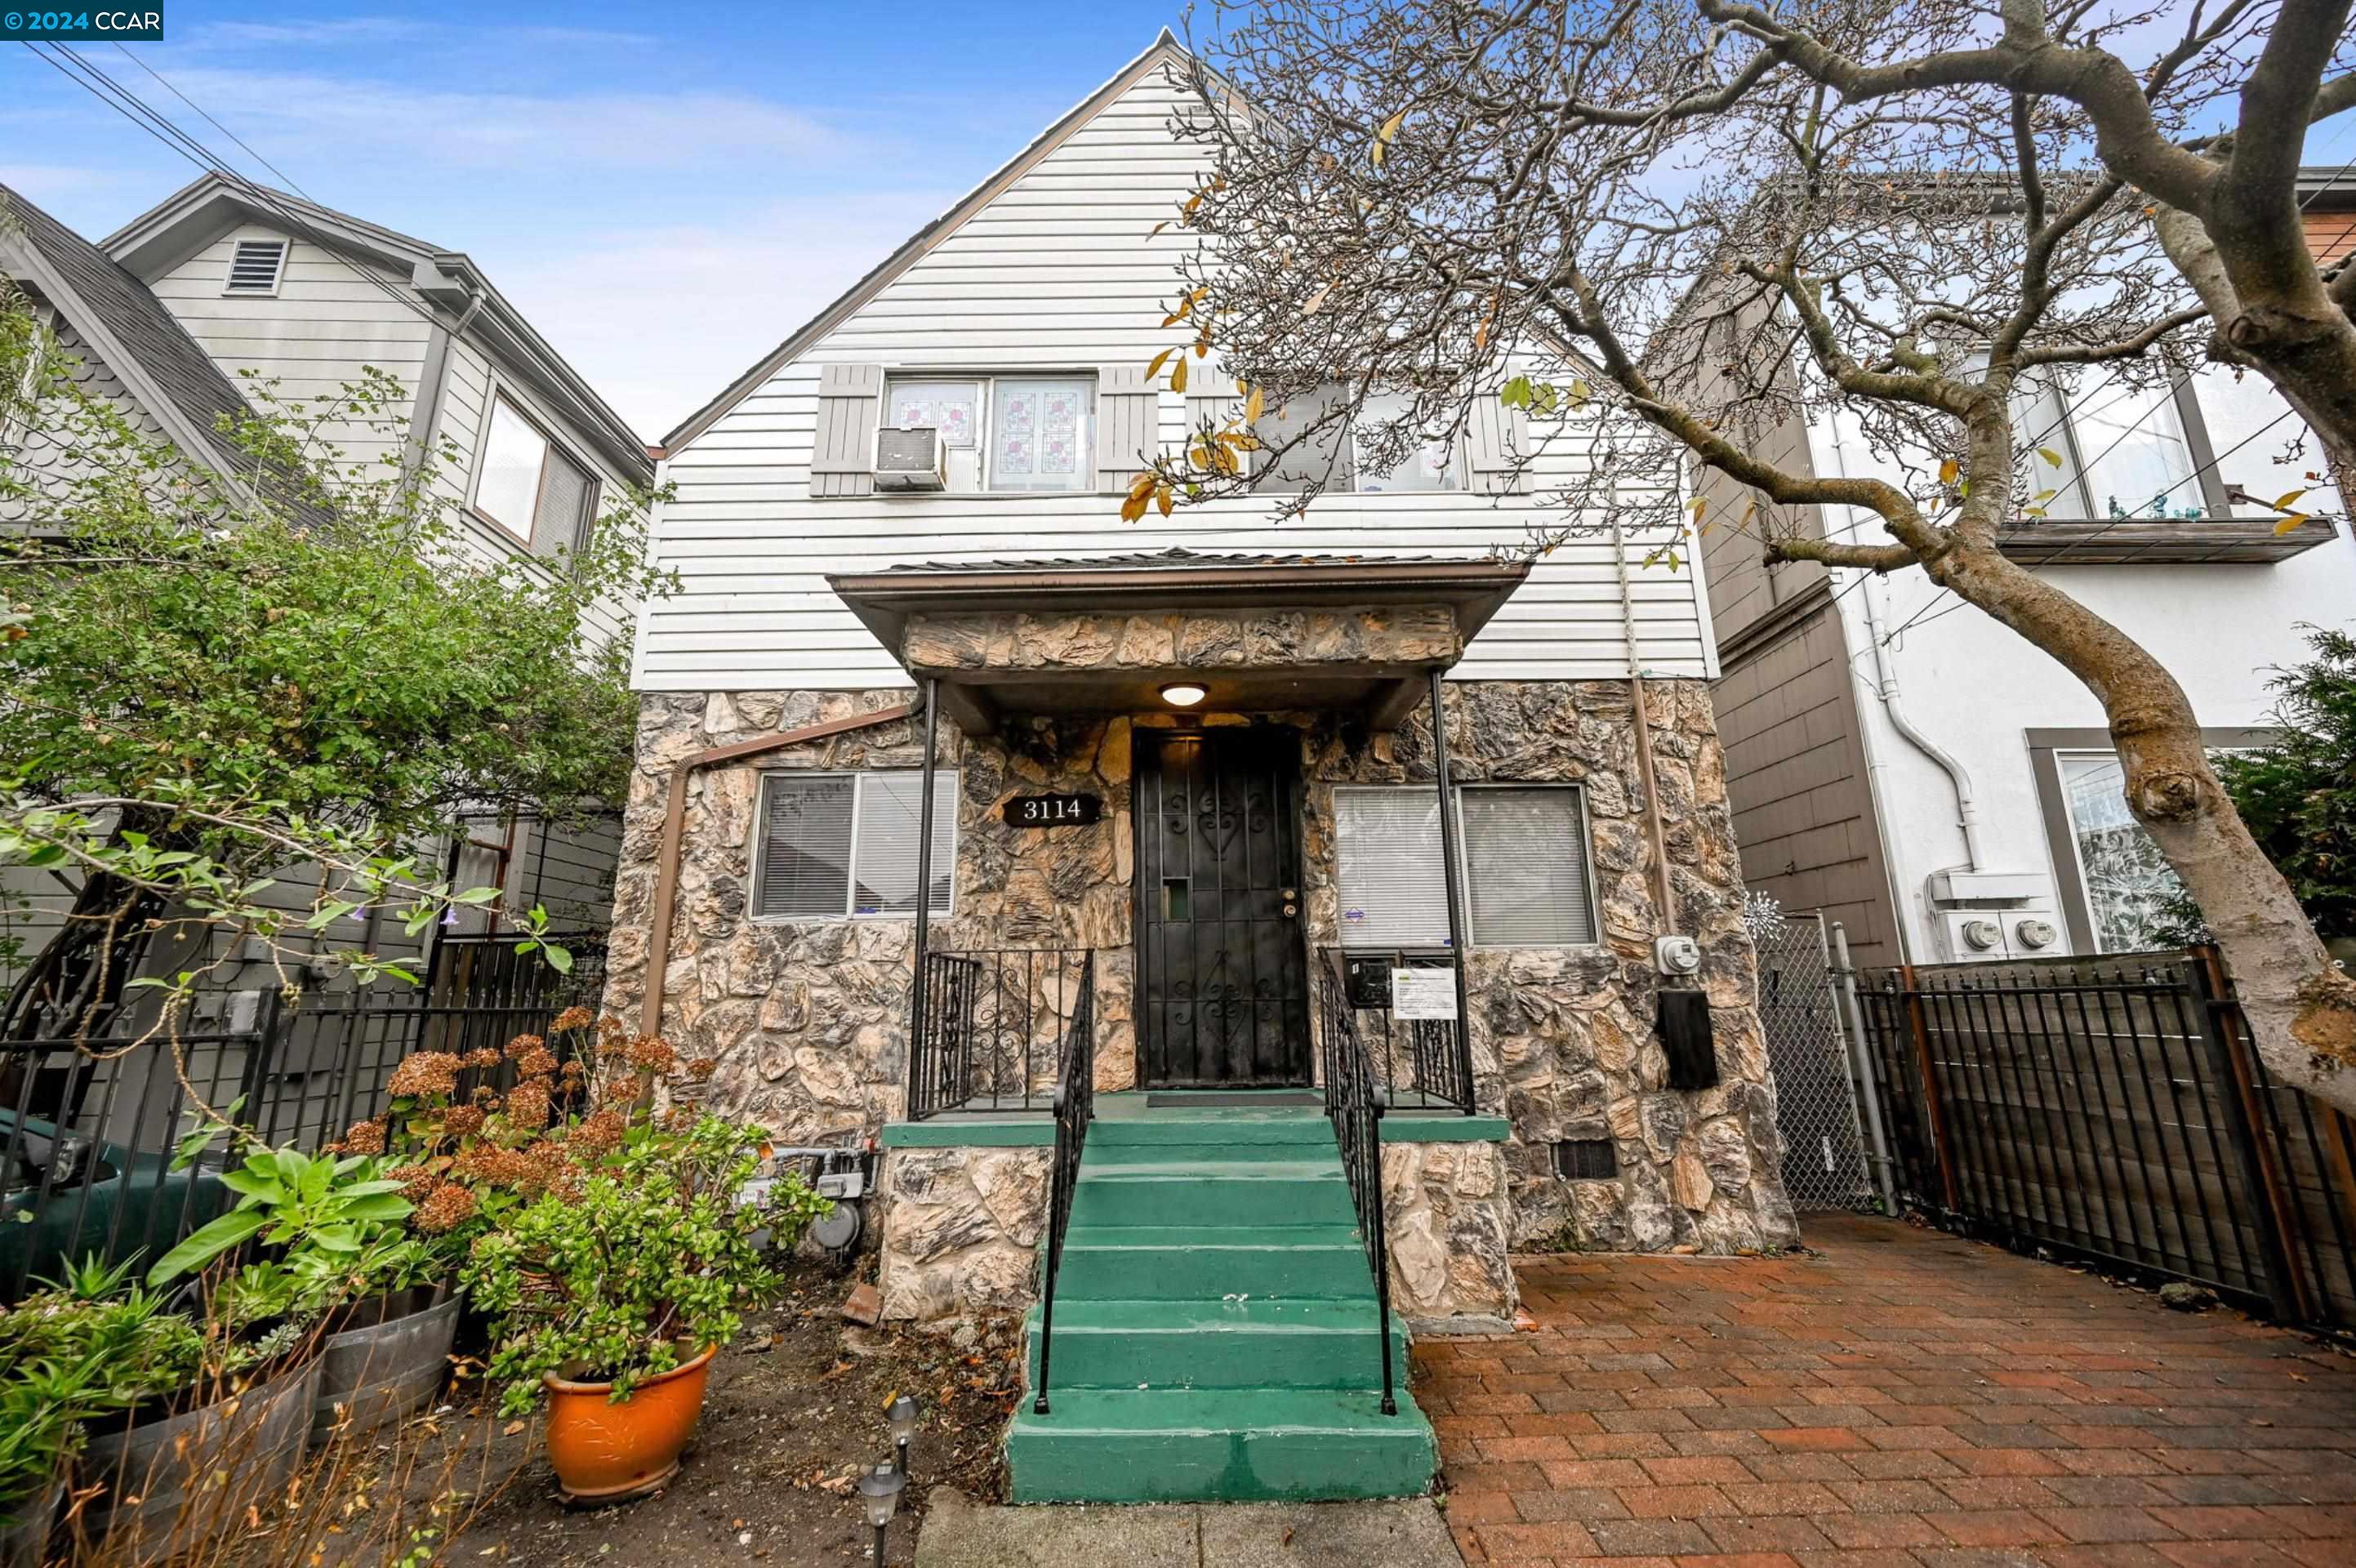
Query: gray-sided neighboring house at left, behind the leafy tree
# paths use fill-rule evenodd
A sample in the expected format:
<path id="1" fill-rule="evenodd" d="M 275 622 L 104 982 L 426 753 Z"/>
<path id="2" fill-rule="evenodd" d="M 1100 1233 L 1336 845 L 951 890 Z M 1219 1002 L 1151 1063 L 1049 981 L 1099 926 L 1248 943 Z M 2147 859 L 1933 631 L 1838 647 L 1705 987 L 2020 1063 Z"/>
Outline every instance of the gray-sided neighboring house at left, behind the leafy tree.
<path id="1" fill-rule="evenodd" d="M 485 558 L 554 556 L 653 483 L 646 445 L 469 257 L 280 191 L 207 174 L 90 242 L 0 188 L 0 271 L 87 386 L 217 478 L 236 452 L 214 426 L 247 407 L 257 377 L 283 398 L 316 398 L 377 367 L 408 391 L 408 452 L 360 424 L 330 438 L 356 464 L 448 440 L 457 464 L 443 478 Z M 64 461 L 26 431 L 0 440 L 16 440 L 33 471 Z M 634 612 L 601 605 L 598 631 L 627 636 Z M 603 930 L 617 843 L 610 822 L 483 822 L 443 855 L 464 885 L 504 888 L 511 909 L 547 904 L 558 925 Z M 38 946 L 64 895 L 47 881 L 9 890 L 9 925 Z M 459 930 L 485 925 L 495 918 L 469 911 Z M 370 944 L 398 951 L 398 930 Z M 264 975 L 259 963 L 224 972 L 224 991 Z"/>

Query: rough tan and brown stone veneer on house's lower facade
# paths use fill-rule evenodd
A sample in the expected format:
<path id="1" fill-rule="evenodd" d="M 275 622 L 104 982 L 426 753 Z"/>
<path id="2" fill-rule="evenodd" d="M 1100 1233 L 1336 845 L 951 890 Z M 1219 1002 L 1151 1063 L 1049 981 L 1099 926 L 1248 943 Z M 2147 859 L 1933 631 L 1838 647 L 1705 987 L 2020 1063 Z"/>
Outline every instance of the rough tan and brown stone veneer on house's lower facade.
<path id="1" fill-rule="evenodd" d="M 1015 619 L 1015 617 L 1006 617 Z M 1027 617 L 1025 617 L 1027 619 Z M 1070 662 L 1157 664 L 1159 633 L 1138 640 L 1124 617 L 1088 626 L 1020 629 Z M 1176 617 L 1126 617 L 1173 619 Z M 1275 619 L 1275 617 L 1270 617 Z M 1291 617 L 1301 619 L 1301 617 Z M 1336 617 L 1326 617 L 1336 619 Z M 1103 622 L 1103 624 L 1098 624 Z M 1338 622 L 1336 622 L 1338 624 Z M 919 643 L 912 631 L 912 650 Z M 1001 659 L 999 626 L 926 631 L 942 659 Z M 1364 638 L 1357 624 L 1355 636 Z M 1383 619 L 1381 636 L 1430 636 Z M 1171 624 L 1171 650 L 1185 643 Z M 1232 662 L 1258 655 L 1293 664 L 1317 626 L 1232 629 Z M 1341 636 L 1341 633 L 1336 633 Z M 968 650 L 968 652 L 957 652 Z M 1204 652 L 1204 650 L 1199 650 Z M 1359 655 L 1364 657 L 1364 655 Z M 1385 1196 L 1392 1276 L 1411 1318 L 1494 1318 L 1513 1309 L 1510 1245 L 1574 1241 L 1586 1248 L 1708 1253 L 1791 1245 L 1798 1227 L 1781 1191 L 1774 1088 L 1760 1031 L 1755 963 L 1743 932 L 1741 873 L 1708 690 L 1694 680 L 1647 685 L 1654 775 L 1677 895 L 1677 930 L 1701 942 L 1699 984 L 1715 1012 L 1722 1081 L 1701 1092 L 1666 1088 L 1654 1041 L 1652 942 L 1661 930 L 1649 892 L 1635 732 L 1626 680 L 1449 683 L 1449 763 L 1456 782 L 1576 782 L 1586 791 L 1600 942 L 1583 949 L 1475 949 L 1468 961 L 1470 1038 L 1482 1111 L 1510 1121 L 1505 1144 L 1421 1144 L 1411 1118 L 1388 1123 Z M 638 1012 L 646 923 L 671 768 L 695 751 L 775 730 L 876 711 L 907 692 L 650 695 L 641 706 L 638 768 L 624 817 L 608 1005 Z M 1098 1090 L 1136 1085 L 1131 737 L 1173 727 L 1169 713 L 1136 718 L 1020 718 L 987 739 L 942 725 L 938 763 L 959 768 L 959 838 L 952 916 L 933 923 L 938 949 L 1081 946 L 1096 951 Z M 1277 723 L 1301 737 L 1303 890 L 1308 942 L 1336 944 L 1333 784 L 1430 784 L 1428 711 L 1369 735 L 1333 713 L 1206 713 L 1187 723 Z M 921 765 L 919 720 L 846 730 L 742 765 L 695 775 L 681 848 L 662 1031 L 686 1057 L 716 1057 L 714 1109 L 770 1125 L 787 1142 L 874 1132 L 905 1109 L 909 921 L 747 918 L 752 843 L 763 770 L 879 770 Z M 1096 826 L 1008 829 L 999 805 L 1015 793 L 1093 791 Z M 1041 1041 L 1072 996 L 1027 998 Z M 1032 1078 L 1053 1076 L 1051 1052 Z M 1619 1177 L 1555 1175 L 1562 1140 L 1609 1140 Z M 1030 1290 L 1044 1194 L 1037 1149 L 895 1149 L 884 1172 L 886 1295 L 893 1316 L 942 1316 Z"/>

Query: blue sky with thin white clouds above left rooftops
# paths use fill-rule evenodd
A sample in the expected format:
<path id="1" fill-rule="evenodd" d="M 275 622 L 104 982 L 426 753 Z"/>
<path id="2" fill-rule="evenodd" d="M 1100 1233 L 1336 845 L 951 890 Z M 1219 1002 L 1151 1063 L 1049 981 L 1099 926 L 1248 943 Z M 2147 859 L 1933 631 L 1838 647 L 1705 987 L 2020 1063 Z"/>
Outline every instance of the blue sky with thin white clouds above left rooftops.
<path id="1" fill-rule="evenodd" d="M 650 440 L 1110 78 L 1180 0 L 233 5 L 75 45 L 243 174 L 464 250 Z M 495 21 L 483 21 L 495 14 Z M 0 45 L 0 184 L 97 238 L 196 170 Z"/>

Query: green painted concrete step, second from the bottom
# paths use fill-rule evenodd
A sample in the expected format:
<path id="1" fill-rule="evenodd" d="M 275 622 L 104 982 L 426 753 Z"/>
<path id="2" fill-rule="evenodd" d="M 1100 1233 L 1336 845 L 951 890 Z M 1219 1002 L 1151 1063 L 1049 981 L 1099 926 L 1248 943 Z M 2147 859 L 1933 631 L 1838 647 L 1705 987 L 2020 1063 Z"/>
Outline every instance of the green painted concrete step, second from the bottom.
<path id="1" fill-rule="evenodd" d="M 1025 1326 L 1039 1387 L 1039 1309 Z M 1407 1328 L 1390 1321 L 1392 1380 Z M 1058 1293 L 1051 1389 L 1381 1389 L 1374 1293 L 1357 1302 L 1074 1302 Z"/>

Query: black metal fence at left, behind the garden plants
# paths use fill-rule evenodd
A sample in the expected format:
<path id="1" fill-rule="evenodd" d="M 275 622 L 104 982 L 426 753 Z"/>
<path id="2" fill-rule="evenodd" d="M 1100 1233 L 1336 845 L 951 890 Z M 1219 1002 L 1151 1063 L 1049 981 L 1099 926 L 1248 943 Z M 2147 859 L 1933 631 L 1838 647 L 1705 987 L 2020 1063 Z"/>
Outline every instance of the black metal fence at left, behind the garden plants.
<path id="1" fill-rule="evenodd" d="M 229 1208 L 219 1156 L 172 1170 L 198 1104 L 316 1149 L 384 1107 L 412 1050 L 504 1045 L 601 986 L 598 937 L 570 975 L 518 937 L 450 937 L 417 991 L 231 998 L 224 1026 L 153 1038 L 0 1041 L 0 1302 L 85 1255 L 155 1257 Z"/>

